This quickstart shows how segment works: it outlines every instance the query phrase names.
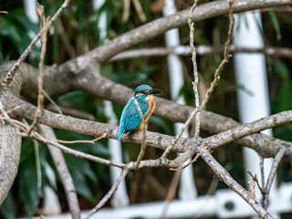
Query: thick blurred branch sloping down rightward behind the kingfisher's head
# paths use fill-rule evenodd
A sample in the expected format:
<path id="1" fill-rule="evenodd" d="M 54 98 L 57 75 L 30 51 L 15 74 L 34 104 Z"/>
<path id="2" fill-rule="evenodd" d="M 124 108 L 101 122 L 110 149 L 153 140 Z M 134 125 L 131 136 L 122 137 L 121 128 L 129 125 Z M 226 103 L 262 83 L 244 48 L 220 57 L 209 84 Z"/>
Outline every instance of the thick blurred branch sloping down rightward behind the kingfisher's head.
<path id="1" fill-rule="evenodd" d="M 87 78 L 84 80 L 84 78 Z M 75 89 L 85 90 L 102 99 L 110 99 L 125 105 L 132 96 L 133 91 L 120 84 L 114 83 L 108 78 L 88 73 L 79 74 L 73 80 Z M 99 89 L 97 89 L 99 88 Z M 174 122 L 185 122 L 193 112 L 193 107 L 184 106 L 168 99 L 156 98 L 154 115 L 172 120 Z M 211 133 L 220 133 L 230 130 L 241 124 L 230 118 L 215 114 L 214 112 L 201 112 L 201 129 Z M 265 134 L 254 134 L 238 141 L 240 144 L 251 147 L 262 154 L 263 157 L 273 157 L 281 145 L 292 149 L 292 142 L 281 141 Z"/>

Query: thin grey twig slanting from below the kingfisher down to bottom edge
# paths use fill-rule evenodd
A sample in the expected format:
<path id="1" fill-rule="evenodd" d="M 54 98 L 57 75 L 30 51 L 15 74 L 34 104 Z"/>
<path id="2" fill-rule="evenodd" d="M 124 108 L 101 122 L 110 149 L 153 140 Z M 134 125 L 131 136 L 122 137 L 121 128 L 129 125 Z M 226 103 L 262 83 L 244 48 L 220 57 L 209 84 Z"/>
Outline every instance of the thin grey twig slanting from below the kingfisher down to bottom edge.
<path id="1" fill-rule="evenodd" d="M 122 172 L 120 173 L 119 178 L 117 181 L 112 185 L 110 188 L 110 191 L 106 193 L 105 196 L 99 201 L 99 203 L 89 211 L 89 213 L 85 216 L 84 219 L 89 219 L 93 214 L 96 214 L 99 209 L 109 201 L 110 197 L 115 193 L 120 185 L 120 182 L 126 177 L 126 175 L 131 171 L 132 169 L 132 162 L 128 164 L 125 168 L 123 168 Z"/>

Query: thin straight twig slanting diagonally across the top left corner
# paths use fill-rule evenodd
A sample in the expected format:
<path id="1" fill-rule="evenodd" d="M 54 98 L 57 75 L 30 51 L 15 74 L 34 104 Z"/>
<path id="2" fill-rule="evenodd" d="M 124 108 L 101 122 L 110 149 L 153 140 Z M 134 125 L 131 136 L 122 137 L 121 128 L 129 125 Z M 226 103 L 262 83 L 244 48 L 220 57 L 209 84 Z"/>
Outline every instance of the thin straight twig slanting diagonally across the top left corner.
<path id="1" fill-rule="evenodd" d="M 28 56 L 28 54 L 30 53 L 31 49 L 36 45 L 36 42 L 38 41 L 38 39 L 47 32 L 48 28 L 50 26 L 52 26 L 52 23 L 57 19 L 58 16 L 61 15 L 61 13 L 64 11 L 64 9 L 66 7 L 68 7 L 70 3 L 70 0 L 65 0 L 64 3 L 57 9 L 57 13 L 52 16 L 52 18 L 47 22 L 46 26 L 44 26 L 39 32 L 38 34 L 35 36 L 35 38 L 30 42 L 30 44 L 28 45 L 28 47 L 26 47 L 26 50 L 24 51 L 24 53 L 17 59 L 16 63 L 13 65 L 13 67 L 8 71 L 5 79 L 2 81 L 2 86 L 4 88 L 7 88 L 10 84 L 10 82 L 12 81 L 12 79 L 15 77 L 16 75 L 16 71 L 18 70 L 18 68 L 20 67 L 21 63 L 26 59 L 26 57 Z"/>

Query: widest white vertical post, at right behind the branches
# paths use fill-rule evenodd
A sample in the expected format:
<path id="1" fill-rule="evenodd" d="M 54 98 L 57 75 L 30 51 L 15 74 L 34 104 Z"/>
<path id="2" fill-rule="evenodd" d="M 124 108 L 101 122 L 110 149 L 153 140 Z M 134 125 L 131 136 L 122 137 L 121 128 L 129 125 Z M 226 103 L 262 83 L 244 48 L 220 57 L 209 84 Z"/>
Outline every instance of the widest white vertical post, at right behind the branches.
<path id="1" fill-rule="evenodd" d="M 264 47 L 260 32 L 261 15 L 258 11 L 235 15 L 234 43 L 240 47 Z M 238 110 L 242 123 L 258 120 L 270 114 L 266 78 L 266 59 L 263 54 L 235 54 L 235 78 L 237 83 Z M 271 130 L 263 133 L 272 135 Z M 244 148 L 245 169 L 256 174 L 261 184 L 260 158 L 258 154 Z M 273 160 L 265 159 L 265 178 Z M 251 179 L 246 174 L 247 179 Z M 257 197 L 260 196 L 257 190 Z M 270 197 L 276 195 L 276 181 L 273 183 Z M 276 215 L 274 215 L 276 216 Z"/>

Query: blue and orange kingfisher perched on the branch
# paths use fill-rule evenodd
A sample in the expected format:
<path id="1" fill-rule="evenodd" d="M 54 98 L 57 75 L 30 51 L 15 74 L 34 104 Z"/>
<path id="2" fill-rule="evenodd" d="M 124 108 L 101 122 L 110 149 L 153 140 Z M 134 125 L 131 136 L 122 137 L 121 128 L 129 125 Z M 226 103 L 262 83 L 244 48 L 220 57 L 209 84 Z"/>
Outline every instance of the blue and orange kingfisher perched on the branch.
<path id="1" fill-rule="evenodd" d="M 155 99 L 153 94 L 162 93 L 162 90 L 152 89 L 149 85 L 140 85 L 135 89 L 134 97 L 132 97 L 124 110 L 122 110 L 120 117 L 120 132 L 117 140 L 120 141 L 122 134 L 125 130 L 143 130 L 144 123 L 149 119 L 155 109 Z M 141 113 L 135 104 L 137 100 L 144 121 L 141 119 Z"/>

